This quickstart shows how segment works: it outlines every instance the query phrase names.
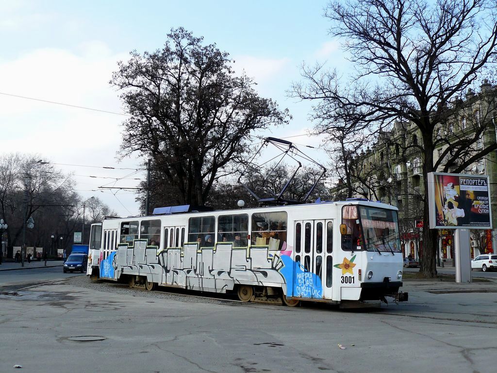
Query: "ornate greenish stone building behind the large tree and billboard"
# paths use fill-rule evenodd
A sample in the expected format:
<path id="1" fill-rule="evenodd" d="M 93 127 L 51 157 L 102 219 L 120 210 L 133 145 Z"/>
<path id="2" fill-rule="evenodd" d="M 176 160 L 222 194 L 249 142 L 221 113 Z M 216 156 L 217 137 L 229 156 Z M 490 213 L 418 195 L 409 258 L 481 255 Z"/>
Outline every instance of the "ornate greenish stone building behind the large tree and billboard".
<path id="1" fill-rule="evenodd" d="M 464 160 L 496 143 L 497 88 L 487 80 L 480 93 L 468 90 L 464 100 L 453 100 L 447 107 L 446 120 L 435 129 L 433 162 L 438 172 L 454 172 Z M 472 142 L 460 156 L 451 152 L 451 144 Z M 377 142 L 357 156 L 360 164 L 355 179 L 356 197 L 381 200 L 399 208 L 399 223 L 404 254 L 419 257 L 422 252 L 420 224 L 424 198 L 422 173 L 422 134 L 414 123 L 397 121 L 390 131 L 379 134 Z M 449 163 L 449 160 L 453 162 Z M 491 183 L 493 227 L 497 228 L 497 151 L 476 159 L 460 174 L 488 175 Z M 362 182 L 358 180 L 361 179 Z M 334 188 L 335 193 L 343 185 Z M 427 223 L 427 222 L 426 222 Z M 453 258 L 453 230 L 439 231 L 440 260 Z M 497 229 L 471 231 L 472 257 L 497 248 Z M 421 250 L 420 250 L 421 249 Z M 494 252 L 497 252 L 495 250 Z"/>

